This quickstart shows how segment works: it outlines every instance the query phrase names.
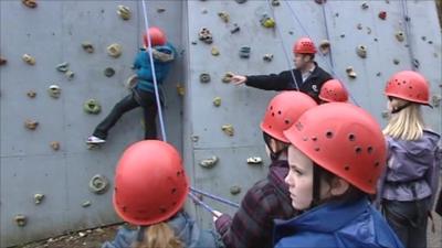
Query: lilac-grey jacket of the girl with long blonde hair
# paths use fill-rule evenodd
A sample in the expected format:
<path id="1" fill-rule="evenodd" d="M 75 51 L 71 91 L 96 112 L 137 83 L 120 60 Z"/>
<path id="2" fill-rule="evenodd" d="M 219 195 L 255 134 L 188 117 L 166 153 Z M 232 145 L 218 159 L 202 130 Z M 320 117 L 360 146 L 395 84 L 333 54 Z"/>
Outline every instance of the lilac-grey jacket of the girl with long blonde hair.
<path id="1" fill-rule="evenodd" d="M 432 208 L 442 162 L 442 149 L 438 147 L 441 137 L 424 130 L 419 140 L 386 139 L 388 160 L 378 183 L 378 203 L 381 198 L 411 202 L 431 197 Z"/>

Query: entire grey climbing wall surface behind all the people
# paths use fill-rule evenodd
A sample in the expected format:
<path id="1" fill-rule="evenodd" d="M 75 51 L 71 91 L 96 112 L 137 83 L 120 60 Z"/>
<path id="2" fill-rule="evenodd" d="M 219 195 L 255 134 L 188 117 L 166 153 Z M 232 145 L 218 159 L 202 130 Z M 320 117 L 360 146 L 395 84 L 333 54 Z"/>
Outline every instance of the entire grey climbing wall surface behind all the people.
<path id="1" fill-rule="evenodd" d="M 114 168 L 124 148 L 143 139 L 141 114 L 135 110 L 117 123 L 103 148 L 87 150 L 84 143 L 113 105 L 128 94 L 123 83 L 133 73 L 130 65 L 140 45 L 140 2 L 38 3 L 31 9 L 21 1 L 0 1 L 0 55 L 7 60 L 0 67 L 2 247 L 119 222 L 110 204 Z M 431 83 L 435 105 L 441 95 L 441 32 L 433 1 L 408 1 L 406 11 L 402 1 L 366 1 L 366 6 L 314 0 L 147 3 L 151 24 L 165 28 L 182 55 L 166 83 L 169 141 L 182 147 L 194 186 L 235 202 L 267 171 L 259 123 L 275 93 L 233 86 L 230 72 L 287 69 L 293 42 L 308 35 L 318 44 L 329 42 L 330 52 L 319 53 L 317 62 L 333 71 L 357 104 L 382 125 L 382 88 L 392 73 L 419 64 Z M 116 13 L 119 4 L 131 10 L 128 20 Z M 402 11 L 408 12 L 410 33 Z M 82 47 L 85 41 L 93 44 L 94 53 Z M 107 54 L 113 43 L 123 47 L 119 57 Z M 358 52 L 359 46 L 365 50 Z M 33 56 L 35 64 L 25 57 L 27 64 L 23 54 Z M 72 79 L 56 71 L 63 62 L 67 68 L 59 69 L 72 71 Z M 106 77 L 106 67 L 113 67 L 115 75 Z M 348 76 L 348 67 L 356 78 Z M 201 78 L 201 74 L 208 75 Z M 49 95 L 53 85 L 61 88 L 59 97 L 56 90 L 55 97 Z M 183 97 L 178 96 L 177 85 Z M 36 93 L 33 98 L 32 91 Z M 99 101 L 98 115 L 83 110 L 88 99 Z M 442 131 L 441 109 L 425 109 L 428 123 L 438 132 Z M 248 164 L 252 157 L 264 162 Z M 108 179 L 109 191 L 91 192 L 90 180 L 96 174 Z M 221 212 L 234 211 L 209 201 Z M 209 214 L 190 202 L 187 206 L 203 226 L 211 226 Z M 25 225 L 19 226 L 23 216 Z"/>

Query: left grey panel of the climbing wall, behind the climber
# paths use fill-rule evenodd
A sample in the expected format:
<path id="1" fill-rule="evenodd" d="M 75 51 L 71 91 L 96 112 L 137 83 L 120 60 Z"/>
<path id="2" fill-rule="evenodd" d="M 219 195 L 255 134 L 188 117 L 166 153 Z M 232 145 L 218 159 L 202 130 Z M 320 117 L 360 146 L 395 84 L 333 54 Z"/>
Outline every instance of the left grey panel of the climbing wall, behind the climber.
<path id="1" fill-rule="evenodd" d="M 140 1 L 38 3 L 31 9 L 21 1 L 0 1 L 0 52 L 7 60 L 0 67 L 1 247 L 120 222 L 110 202 L 114 169 L 123 150 L 144 138 L 143 114 L 137 109 L 117 122 L 101 149 L 88 150 L 85 144 L 95 126 L 129 93 L 124 83 L 133 74 L 144 30 Z M 130 19 L 117 14 L 119 4 L 130 9 Z M 181 3 L 148 4 L 150 24 L 161 25 L 181 52 Z M 82 47 L 85 42 L 93 45 L 93 53 Z M 118 57 L 107 52 L 113 43 L 122 47 Z M 34 57 L 35 64 L 27 64 L 23 54 Z M 179 149 L 182 98 L 176 87 L 183 83 L 181 60 L 165 83 L 166 128 Z M 67 67 L 74 73 L 72 79 L 55 68 L 63 62 L 69 66 L 59 69 Z M 107 67 L 115 71 L 110 77 L 104 73 Z M 57 98 L 50 96 L 51 85 L 61 88 Z M 99 114 L 84 111 L 88 99 L 101 104 Z M 36 121 L 35 129 L 27 128 L 27 120 Z M 90 188 L 97 174 L 109 181 L 103 194 Z M 94 182 L 99 190 L 99 179 Z"/>

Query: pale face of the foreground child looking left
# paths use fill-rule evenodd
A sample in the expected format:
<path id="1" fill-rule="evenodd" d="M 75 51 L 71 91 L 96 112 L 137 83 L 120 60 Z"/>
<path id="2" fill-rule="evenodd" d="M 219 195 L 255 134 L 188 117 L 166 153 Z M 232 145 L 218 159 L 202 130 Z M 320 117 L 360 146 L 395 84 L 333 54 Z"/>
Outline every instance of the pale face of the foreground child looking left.
<path id="1" fill-rule="evenodd" d="M 298 211 L 307 209 L 313 201 L 313 161 L 290 145 L 288 165 L 285 183 L 288 184 L 292 206 Z"/>

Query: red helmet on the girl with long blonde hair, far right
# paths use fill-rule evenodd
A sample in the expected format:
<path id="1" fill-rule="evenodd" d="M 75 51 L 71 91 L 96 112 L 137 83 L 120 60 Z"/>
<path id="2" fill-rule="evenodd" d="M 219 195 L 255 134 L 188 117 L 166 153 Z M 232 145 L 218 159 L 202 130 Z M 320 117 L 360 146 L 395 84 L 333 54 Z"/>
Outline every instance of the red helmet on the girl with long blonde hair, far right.
<path id="1" fill-rule="evenodd" d="M 430 105 L 430 89 L 427 79 L 419 73 L 402 71 L 394 74 L 387 83 L 385 94 L 403 100 Z"/>

